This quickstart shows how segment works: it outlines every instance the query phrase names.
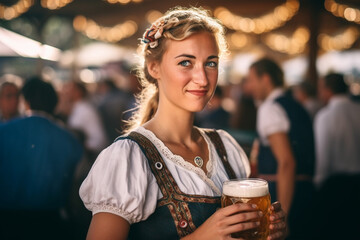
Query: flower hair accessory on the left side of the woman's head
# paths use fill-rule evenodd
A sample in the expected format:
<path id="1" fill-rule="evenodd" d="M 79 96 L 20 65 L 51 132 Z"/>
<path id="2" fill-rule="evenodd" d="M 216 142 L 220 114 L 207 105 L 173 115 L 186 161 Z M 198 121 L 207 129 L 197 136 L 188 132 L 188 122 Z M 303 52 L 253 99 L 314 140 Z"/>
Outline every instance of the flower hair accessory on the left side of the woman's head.
<path id="1" fill-rule="evenodd" d="M 179 21 L 178 18 L 173 17 L 169 20 L 158 20 L 155 23 L 153 23 L 151 25 L 150 28 L 148 28 L 146 30 L 146 32 L 144 33 L 142 42 L 143 43 L 148 43 L 150 48 L 156 48 L 159 44 L 158 39 L 162 37 L 162 34 L 164 32 L 164 26 L 168 23 L 174 24 L 177 23 Z"/>

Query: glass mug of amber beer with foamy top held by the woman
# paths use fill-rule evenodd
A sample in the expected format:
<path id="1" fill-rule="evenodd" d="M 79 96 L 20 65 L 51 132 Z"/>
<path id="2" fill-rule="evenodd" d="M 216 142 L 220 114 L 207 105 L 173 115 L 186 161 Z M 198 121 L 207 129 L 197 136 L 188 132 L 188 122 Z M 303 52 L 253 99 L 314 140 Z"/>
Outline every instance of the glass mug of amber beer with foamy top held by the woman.
<path id="1" fill-rule="evenodd" d="M 259 178 L 235 179 L 224 182 L 221 207 L 235 203 L 256 204 L 263 216 L 256 228 L 231 234 L 234 238 L 246 240 L 265 240 L 269 235 L 269 217 L 271 205 L 267 181 Z"/>

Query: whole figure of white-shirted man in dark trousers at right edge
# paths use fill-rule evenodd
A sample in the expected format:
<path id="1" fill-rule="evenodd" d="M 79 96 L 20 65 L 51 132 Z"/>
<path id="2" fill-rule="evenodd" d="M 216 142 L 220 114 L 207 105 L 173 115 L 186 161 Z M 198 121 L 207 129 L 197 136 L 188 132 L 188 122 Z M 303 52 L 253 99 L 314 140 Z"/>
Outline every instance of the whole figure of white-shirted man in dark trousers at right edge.
<path id="1" fill-rule="evenodd" d="M 329 211 L 334 208 L 329 199 L 336 198 L 338 206 L 360 201 L 360 102 L 349 94 L 344 76 L 338 73 L 319 79 L 318 94 L 325 107 L 314 120 L 317 192 L 313 221 L 317 224 L 310 239 L 356 240 L 360 208 Z"/>

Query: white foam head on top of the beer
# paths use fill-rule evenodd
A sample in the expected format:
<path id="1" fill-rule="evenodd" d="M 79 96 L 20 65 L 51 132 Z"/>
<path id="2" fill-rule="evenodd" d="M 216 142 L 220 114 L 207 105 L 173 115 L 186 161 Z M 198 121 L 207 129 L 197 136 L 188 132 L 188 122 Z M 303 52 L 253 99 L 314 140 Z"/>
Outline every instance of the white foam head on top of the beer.
<path id="1" fill-rule="evenodd" d="M 226 182 L 223 194 L 232 197 L 262 197 L 269 194 L 268 183 L 260 179 L 243 179 Z"/>

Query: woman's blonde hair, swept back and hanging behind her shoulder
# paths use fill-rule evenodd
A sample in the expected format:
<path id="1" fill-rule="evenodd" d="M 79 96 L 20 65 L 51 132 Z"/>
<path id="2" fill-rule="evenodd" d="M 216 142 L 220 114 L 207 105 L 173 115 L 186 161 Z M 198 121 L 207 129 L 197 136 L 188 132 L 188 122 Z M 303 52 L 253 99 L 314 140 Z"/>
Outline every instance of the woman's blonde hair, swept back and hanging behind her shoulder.
<path id="1" fill-rule="evenodd" d="M 171 21 L 173 19 L 177 20 Z M 163 33 L 162 36 L 156 40 L 158 41 L 157 45 L 151 47 L 149 42 L 142 41 L 140 43 L 142 64 L 137 68 L 137 75 L 142 86 L 142 91 L 136 96 L 137 110 L 127 122 L 125 132 L 129 132 L 146 123 L 157 111 L 159 102 L 157 80 L 149 74 L 147 63 L 153 61 L 161 62 L 166 50 L 166 39 L 181 41 L 195 33 L 206 31 L 214 35 L 219 50 L 219 57 L 227 54 L 227 43 L 223 26 L 217 19 L 210 17 L 209 13 L 204 9 L 176 7 L 155 21 L 155 23 L 159 22 L 163 23 Z M 154 24 L 152 26 L 154 26 Z M 148 31 L 149 29 L 145 34 L 148 33 Z"/>

